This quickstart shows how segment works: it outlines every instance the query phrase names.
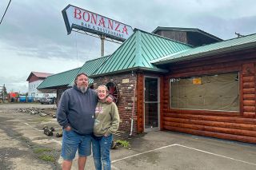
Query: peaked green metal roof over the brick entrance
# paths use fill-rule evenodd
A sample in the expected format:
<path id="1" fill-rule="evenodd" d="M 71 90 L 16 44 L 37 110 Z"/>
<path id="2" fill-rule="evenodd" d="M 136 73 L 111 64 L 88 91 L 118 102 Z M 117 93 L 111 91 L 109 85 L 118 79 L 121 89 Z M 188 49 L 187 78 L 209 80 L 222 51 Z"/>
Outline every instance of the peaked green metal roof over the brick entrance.
<path id="1" fill-rule="evenodd" d="M 166 70 L 158 69 L 155 65 L 152 65 L 150 61 L 190 48 L 190 45 L 135 29 L 134 34 L 126 42 L 123 42 L 106 60 L 105 64 L 92 73 L 91 77 L 130 69 L 166 72 Z"/>

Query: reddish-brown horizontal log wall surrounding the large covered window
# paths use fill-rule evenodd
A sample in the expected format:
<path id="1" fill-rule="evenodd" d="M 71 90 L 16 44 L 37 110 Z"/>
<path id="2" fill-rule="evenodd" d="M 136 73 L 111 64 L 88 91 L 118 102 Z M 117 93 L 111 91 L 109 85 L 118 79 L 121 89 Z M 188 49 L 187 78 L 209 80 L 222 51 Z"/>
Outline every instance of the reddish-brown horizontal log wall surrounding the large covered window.
<path id="1" fill-rule="evenodd" d="M 185 61 L 170 65 L 171 74 L 164 78 L 162 89 L 164 91 L 161 109 L 162 129 L 256 144 L 255 56 L 256 53 L 253 52 L 243 56 L 212 57 L 204 61 L 198 59 L 196 62 Z M 190 77 L 230 71 L 239 72 L 240 111 L 218 112 L 170 108 L 170 77 Z"/>

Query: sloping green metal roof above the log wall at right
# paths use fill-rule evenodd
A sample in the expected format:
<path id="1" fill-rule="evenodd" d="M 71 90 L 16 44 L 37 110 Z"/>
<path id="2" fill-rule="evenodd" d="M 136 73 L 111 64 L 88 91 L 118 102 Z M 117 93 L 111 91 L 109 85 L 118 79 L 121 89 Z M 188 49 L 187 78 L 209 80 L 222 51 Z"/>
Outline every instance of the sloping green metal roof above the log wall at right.
<path id="1" fill-rule="evenodd" d="M 152 60 L 151 63 L 154 65 L 161 65 L 178 61 L 189 61 L 194 58 L 208 57 L 215 54 L 230 53 L 251 48 L 256 48 L 256 34 L 233 38 L 223 42 L 216 42 L 214 44 L 204 45 L 194 49 L 186 49 L 178 53 L 172 53 L 165 57 Z"/>

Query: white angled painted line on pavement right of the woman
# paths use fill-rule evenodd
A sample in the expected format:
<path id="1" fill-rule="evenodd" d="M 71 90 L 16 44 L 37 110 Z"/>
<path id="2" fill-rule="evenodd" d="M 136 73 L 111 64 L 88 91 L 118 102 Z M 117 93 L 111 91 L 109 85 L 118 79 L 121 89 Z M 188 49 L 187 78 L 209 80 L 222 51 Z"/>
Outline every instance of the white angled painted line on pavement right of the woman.
<path id="1" fill-rule="evenodd" d="M 204 153 L 207 153 L 207 154 L 210 154 L 210 155 L 219 156 L 219 157 L 223 157 L 223 158 L 226 158 L 226 159 L 235 160 L 235 161 L 238 161 L 238 162 L 241 162 L 241 163 L 244 163 L 244 164 L 251 164 L 251 165 L 256 166 L 256 164 L 250 163 L 250 162 L 246 162 L 244 160 L 234 159 L 234 158 L 229 157 L 229 156 L 222 156 L 222 155 L 219 155 L 219 154 L 216 154 L 216 153 L 212 153 L 212 152 L 207 152 L 207 151 L 204 151 L 204 150 L 201 150 L 201 149 L 198 149 L 198 148 L 187 147 L 187 146 L 182 145 L 182 144 L 170 144 L 170 145 L 167 145 L 167 146 L 164 146 L 164 147 L 161 147 L 161 148 L 155 148 L 155 149 L 152 149 L 152 150 L 149 150 L 149 151 L 146 151 L 146 152 L 141 152 L 141 153 L 134 154 L 132 156 L 123 157 L 123 158 L 118 159 L 118 160 L 113 160 L 113 161 L 111 161 L 111 163 L 115 163 L 115 162 L 118 162 L 120 160 L 126 160 L 126 159 L 134 157 L 134 156 L 140 156 L 140 155 L 148 153 L 148 152 L 154 152 L 154 151 L 160 150 L 162 148 L 168 148 L 168 147 L 173 147 L 173 146 L 179 146 L 179 147 L 183 147 L 183 148 L 190 148 L 190 149 L 198 151 L 198 152 L 204 152 Z"/>

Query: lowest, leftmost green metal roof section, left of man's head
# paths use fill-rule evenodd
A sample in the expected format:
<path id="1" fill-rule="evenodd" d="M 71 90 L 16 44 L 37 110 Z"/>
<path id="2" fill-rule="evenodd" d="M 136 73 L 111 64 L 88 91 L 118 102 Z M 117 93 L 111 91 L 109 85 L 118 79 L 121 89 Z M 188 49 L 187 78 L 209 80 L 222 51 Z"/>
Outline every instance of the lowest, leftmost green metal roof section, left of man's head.
<path id="1" fill-rule="evenodd" d="M 37 89 L 52 89 L 57 86 L 70 85 L 70 81 L 74 80 L 80 69 L 81 67 L 46 77 L 46 79 L 38 85 Z"/>

